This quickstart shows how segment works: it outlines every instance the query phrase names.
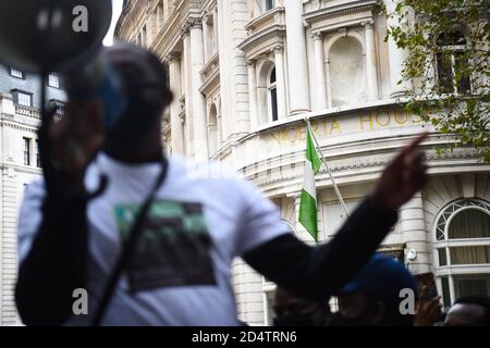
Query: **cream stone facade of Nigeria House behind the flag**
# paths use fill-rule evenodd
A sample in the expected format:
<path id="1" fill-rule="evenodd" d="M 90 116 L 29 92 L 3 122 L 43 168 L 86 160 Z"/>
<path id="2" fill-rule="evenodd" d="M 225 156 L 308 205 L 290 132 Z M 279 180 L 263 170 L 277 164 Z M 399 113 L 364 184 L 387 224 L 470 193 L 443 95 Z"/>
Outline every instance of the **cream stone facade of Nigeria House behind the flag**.
<path id="1" fill-rule="evenodd" d="M 253 181 L 297 222 L 308 116 L 352 211 L 384 165 L 422 130 L 430 181 L 400 210 L 381 251 L 432 273 L 448 307 L 490 295 L 490 166 L 403 109 L 405 51 L 384 40 L 380 7 L 393 0 L 128 0 L 115 37 L 156 52 L 175 99 L 166 111 L 169 153 L 218 160 Z M 437 70 L 438 66 L 434 66 Z M 316 177 L 328 240 L 345 220 L 328 173 Z M 366 232 L 369 233 L 369 232 Z M 348 252 L 348 250 L 346 250 Z M 270 323 L 274 285 L 234 264 L 241 319 Z"/>

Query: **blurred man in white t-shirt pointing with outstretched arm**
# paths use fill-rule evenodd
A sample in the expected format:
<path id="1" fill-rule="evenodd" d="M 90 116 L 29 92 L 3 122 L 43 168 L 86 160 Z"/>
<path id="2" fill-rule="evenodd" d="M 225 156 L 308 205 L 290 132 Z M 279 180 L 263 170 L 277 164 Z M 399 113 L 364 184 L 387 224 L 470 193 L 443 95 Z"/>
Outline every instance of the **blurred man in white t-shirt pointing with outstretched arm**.
<path id="1" fill-rule="evenodd" d="M 144 202 L 151 204 L 143 234 L 101 324 L 237 325 L 235 257 L 284 289 L 324 302 L 369 260 L 397 209 L 426 182 L 421 136 L 394 158 L 329 244 L 307 246 L 250 183 L 215 164 L 163 157 L 161 114 L 173 98 L 167 71 L 132 45 L 107 54 L 125 82 L 126 111 L 106 129 L 103 98 L 69 96 L 51 133 L 60 178 L 30 185 L 22 204 L 16 303 L 28 325 L 90 322 Z M 88 195 L 103 177 L 106 189 Z M 76 288 L 88 291 L 86 316 L 73 314 Z"/>

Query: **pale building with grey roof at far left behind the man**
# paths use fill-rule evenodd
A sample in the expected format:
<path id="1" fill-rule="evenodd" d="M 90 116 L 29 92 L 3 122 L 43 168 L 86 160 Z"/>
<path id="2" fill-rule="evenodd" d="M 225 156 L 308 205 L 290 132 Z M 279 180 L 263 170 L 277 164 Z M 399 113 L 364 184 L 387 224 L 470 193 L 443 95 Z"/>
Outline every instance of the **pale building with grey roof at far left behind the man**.
<path id="1" fill-rule="evenodd" d="M 62 108 L 65 96 L 56 74 L 49 75 L 47 96 Z M 39 108 L 39 77 L 0 65 L 0 325 L 17 321 L 17 212 L 25 187 L 41 175 Z"/>

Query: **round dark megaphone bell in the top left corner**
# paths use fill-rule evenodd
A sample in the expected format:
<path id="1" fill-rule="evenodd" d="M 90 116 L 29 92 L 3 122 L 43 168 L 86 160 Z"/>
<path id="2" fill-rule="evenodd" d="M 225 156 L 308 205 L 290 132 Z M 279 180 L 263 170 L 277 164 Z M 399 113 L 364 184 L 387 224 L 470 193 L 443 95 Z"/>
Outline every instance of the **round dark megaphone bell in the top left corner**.
<path id="1" fill-rule="evenodd" d="M 101 47 L 111 0 L 0 1 L 0 61 L 30 72 L 66 72 Z"/>

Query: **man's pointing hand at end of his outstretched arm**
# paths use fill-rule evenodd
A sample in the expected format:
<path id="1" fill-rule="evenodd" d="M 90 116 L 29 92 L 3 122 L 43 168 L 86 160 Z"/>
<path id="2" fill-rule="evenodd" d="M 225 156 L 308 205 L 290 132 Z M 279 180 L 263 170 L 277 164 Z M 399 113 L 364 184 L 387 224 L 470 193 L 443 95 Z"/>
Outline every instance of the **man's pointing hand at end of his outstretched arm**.
<path id="1" fill-rule="evenodd" d="M 426 157 L 417 146 L 426 137 L 427 133 L 404 147 L 384 169 L 372 194 L 376 207 L 396 210 L 424 187 L 427 182 Z"/>

